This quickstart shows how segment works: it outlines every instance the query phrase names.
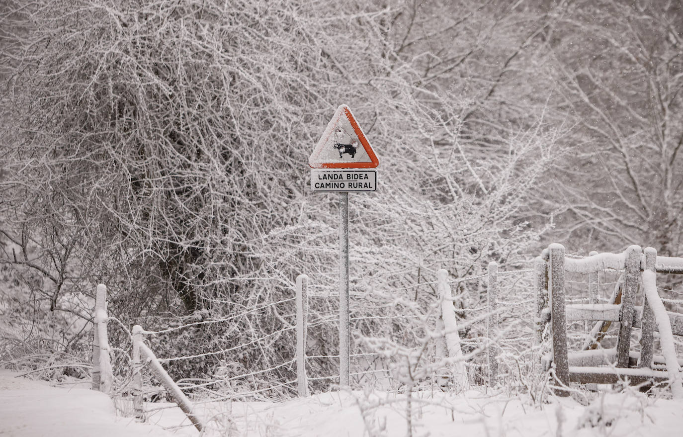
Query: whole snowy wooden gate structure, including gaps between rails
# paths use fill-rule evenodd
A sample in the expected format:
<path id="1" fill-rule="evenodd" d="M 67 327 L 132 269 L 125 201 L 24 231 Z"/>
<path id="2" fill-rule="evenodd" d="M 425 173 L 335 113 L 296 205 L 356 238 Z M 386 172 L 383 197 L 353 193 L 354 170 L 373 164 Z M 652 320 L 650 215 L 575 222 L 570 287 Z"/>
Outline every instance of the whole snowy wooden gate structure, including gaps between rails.
<path id="1" fill-rule="evenodd" d="M 666 382 L 683 397 L 683 360 L 675 352 L 683 344 L 683 300 L 662 298 L 676 292 L 656 286 L 657 273 L 682 274 L 683 259 L 640 246 L 568 257 L 561 244 L 551 244 L 536 270 L 537 339 L 552 343 L 545 361 L 553 364 L 557 393 L 567 395 L 570 382 L 628 380 Z"/>

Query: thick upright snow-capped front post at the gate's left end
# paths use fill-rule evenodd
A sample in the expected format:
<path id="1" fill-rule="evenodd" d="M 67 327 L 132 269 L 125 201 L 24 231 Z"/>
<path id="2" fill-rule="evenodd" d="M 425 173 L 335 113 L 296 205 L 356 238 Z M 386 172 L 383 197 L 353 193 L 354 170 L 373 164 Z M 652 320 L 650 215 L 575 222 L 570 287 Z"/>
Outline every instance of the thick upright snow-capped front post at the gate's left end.
<path id="1" fill-rule="evenodd" d="M 553 243 L 548 246 L 550 268 L 548 269 L 548 298 L 550 300 L 550 326 L 553 334 L 553 363 L 555 378 L 561 386 L 569 386 L 569 361 L 567 356 L 567 322 L 564 299 L 564 246 Z M 558 396 L 569 396 L 569 391 L 557 389 Z"/>

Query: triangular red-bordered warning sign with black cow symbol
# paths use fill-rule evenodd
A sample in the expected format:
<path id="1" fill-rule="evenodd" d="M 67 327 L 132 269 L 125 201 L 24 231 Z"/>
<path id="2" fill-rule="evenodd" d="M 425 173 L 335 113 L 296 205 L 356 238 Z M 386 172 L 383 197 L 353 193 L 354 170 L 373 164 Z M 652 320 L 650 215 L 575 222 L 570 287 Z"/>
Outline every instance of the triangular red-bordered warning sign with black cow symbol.
<path id="1" fill-rule="evenodd" d="M 374 169 L 379 165 L 361 126 L 342 104 L 308 158 L 314 169 Z"/>

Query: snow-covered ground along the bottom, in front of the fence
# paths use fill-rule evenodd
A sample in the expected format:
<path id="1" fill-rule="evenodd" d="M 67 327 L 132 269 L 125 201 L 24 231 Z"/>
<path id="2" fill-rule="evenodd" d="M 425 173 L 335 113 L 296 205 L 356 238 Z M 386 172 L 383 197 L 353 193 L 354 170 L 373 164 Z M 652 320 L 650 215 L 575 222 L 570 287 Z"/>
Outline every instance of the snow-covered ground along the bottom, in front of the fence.
<path id="1" fill-rule="evenodd" d="M 16 378 L 0 370 L 2 436 L 199 436 L 171 404 L 148 423 L 117 417 L 113 402 L 87 384 L 71 388 Z M 413 400 L 413 436 L 680 436 L 683 402 L 629 393 L 591 394 L 587 406 L 550 399 L 543 408 L 502 393 L 458 395 L 424 391 Z M 168 407 L 168 408 L 164 408 Z M 275 402 L 212 403 L 197 406 L 206 436 L 406 436 L 404 394 L 361 391 L 325 393 Z"/>

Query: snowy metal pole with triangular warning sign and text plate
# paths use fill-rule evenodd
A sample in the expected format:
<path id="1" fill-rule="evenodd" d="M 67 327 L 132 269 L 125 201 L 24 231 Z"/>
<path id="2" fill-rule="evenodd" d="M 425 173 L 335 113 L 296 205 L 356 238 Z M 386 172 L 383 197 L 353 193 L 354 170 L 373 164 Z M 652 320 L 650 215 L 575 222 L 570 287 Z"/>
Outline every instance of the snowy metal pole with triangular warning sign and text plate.
<path id="1" fill-rule="evenodd" d="M 377 190 L 379 161 L 351 110 L 342 104 L 308 158 L 311 190 L 339 193 L 339 385 L 349 384 L 348 193 Z"/>

